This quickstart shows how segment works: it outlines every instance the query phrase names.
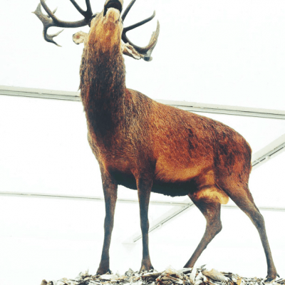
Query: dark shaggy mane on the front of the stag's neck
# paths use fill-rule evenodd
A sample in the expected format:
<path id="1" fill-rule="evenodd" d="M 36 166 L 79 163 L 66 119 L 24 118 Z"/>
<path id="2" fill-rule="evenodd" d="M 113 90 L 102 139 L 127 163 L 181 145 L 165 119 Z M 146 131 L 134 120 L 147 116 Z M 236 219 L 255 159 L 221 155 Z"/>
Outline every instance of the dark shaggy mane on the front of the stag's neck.
<path id="1" fill-rule="evenodd" d="M 124 118 L 125 64 L 120 45 L 107 51 L 86 46 L 80 88 L 86 118 L 94 133 L 113 133 Z"/>

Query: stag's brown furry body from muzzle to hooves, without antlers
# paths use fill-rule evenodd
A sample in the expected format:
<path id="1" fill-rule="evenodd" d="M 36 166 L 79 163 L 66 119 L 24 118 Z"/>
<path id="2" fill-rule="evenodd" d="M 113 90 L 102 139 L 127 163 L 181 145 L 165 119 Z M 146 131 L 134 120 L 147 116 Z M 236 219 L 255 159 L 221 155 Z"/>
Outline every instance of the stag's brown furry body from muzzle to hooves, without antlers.
<path id="1" fill-rule="evenodd" d="M 152 269 L 148 252 L 150 192 L 189 195 L 207 219 L 191 259 L 222 229 L 220 204 L 229 197 L 252 219 L 266 252 L 268 277 L 276 269 L 264 222 L 248 190 L 251 149 L 222 123 L 151 100 L 125 87 L 119 11 L 92 20 L 81 63 L 81 98 L 88 141 L 100 165 L 105 195 L 105 238 L 98 274 L 109 270 L 109 247 L 118 185 L 138 189 L 142 228 L 141 270 Z"/>

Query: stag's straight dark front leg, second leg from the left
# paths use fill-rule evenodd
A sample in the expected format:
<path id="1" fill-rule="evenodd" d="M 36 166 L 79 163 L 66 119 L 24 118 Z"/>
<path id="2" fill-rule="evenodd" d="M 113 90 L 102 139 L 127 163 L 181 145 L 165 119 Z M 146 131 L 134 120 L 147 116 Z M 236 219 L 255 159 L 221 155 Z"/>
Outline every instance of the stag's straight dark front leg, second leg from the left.
<path id="1" fill-rule="evenodd" d="M 152 189 L 152 181 L 138 180 L 138 199 L 140 203 L 140 228 L 142 230 L 142 266 L 140 271 L 150 271 L 153 269 L 150 261 L 150 252 L 148 249 L 148 205 L 150 202 L 150 192 Z"/>

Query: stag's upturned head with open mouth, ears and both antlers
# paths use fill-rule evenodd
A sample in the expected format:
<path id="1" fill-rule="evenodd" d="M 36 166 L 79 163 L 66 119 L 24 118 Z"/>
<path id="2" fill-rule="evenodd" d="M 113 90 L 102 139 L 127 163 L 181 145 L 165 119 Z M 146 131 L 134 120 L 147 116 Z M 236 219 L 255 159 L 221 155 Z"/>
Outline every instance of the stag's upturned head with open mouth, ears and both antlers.
<path id="1" fill-rule="evenodd" d="M 95 14 L 93 14 L 92 12 L 90 6 L 90 0 L 86 0 L 86 7 L 87 7 L 86 11 L 81 9 L 81 7 L 78 6 L 75 0 L 70 0 L 70 1 L 73 4 L 73 6 L 75 6 L 75 8 L 78 10 L 78 12 L 84 16 L 84 19 L 82 19 L 81 21 L 73 21 L 73 22 L 61 21 L 55 16 L 56 10 L 51 11 L 51 9 L 49 9 L 48 6 L 46 5 L 45 0 L 41 0 L 41 3 L 38 4 L 36 11 L 33 12 L 34 14 L 36 14 L 36 16 L 38 16 L 38 19 L 40 19 L 41 22 L 43 23 L 43 38 L 46 41 L 54 43 L 57 46 L 59 46 L 55 41 L 53 41 L 53 38 L 58 36 L 58 34 L 61 33 L 63 30 L 52 35 L 48 34 L 47 33 L 48 28 L 50 28 L 51 26 L 56 26 L 61 28 L 78 28 L 87 25 L 90 26 L 89 34 L 80 31 L 73 35 L 73 41 L 79 44 L 79 43 L 87 43 L 89 41 L 91 35 L 93 35 L 92 31 L 95 30 L 95 27 L 96 27 L 96 33 L 98 33 L 98 31 L 100 31 L 100 26 L 108 25 L 108 28 L 110 28 L 113 31 L 113 36 L 112 38 L 108 38 L 108 34 L 106 34 L 105 30 L 102 29 L 102 34 L 100 35 L 102 41 L 104 39 L 105 41 L 107 40 L 119 41 L 121 50 L 125 55 L 131 56 L 135 59 L 143 58 L 145 61 L 152 60 L 152 57 L 150 55 L 153 49 L 155 48 L 155 45 L 157 43 L 157 38 L 160 33 L 159 22 L 157 21 L 157 28 L 156 31 L 152 33 L 152 36 L 150 38 L 150 43 L 145 47 L 136 46 L 128 39 L 126 33 L 152 20 L 155 17 L 155 12 L 149 18 L 140 21 L 137 24 L 133 24 L 131 26 L 124 28 L 123 21 L 125 20 L 125 16 L 127 16 L 133 4 L 135 3 L 135 0 L 132 0 L 130 2 L 130 4 L 128 5 L 127 9 L 125 9 L 122 16 L 121 12 L 123 10 L 123 0 L 106 0 L 103 11 Z M 43 12 L 41 11 L 41 6 L 48 15 L 43 14 Z"/>

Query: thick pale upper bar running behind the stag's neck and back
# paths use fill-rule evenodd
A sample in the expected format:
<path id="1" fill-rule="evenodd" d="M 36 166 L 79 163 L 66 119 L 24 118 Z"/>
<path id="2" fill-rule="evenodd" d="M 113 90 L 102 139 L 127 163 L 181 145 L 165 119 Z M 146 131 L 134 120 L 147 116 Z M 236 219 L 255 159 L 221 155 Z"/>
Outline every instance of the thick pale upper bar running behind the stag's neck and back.
<path id="1" fill-rule="evenodd" d="M 14 87 L 14 86 L 0 86 L 0 95 L 81 101 L 79 92 L 45 90 L 38 88 L 24 88 L 24 87 Z M 215 104 L 204 104 L 204 103 L 175 101 L 175 100 L 156 100 L 156 101 L 159 103 L 172 105 L 176 108 L 192 112 L 217 113 L 225 115 L 242 115 L 247 117 L 285 120 L 285 110 L 247 108 L 247 107 L 237 107 L 230 105 L 215 105 Z"/>

